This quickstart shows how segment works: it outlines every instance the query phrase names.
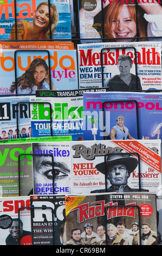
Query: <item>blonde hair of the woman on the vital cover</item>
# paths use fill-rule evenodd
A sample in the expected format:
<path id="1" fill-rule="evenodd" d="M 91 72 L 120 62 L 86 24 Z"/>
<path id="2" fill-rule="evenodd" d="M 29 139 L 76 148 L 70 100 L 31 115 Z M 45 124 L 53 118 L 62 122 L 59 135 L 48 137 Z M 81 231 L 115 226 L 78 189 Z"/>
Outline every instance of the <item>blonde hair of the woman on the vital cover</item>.
<path id="1" fill-rule="evenodd" d="M 47 1 L 44 1 L 44 2 L 41 2 L 40 4 L 37 5 L 37 8 L 36 8 L 36 11 L 41 7 L 41 5 L 47 5 L 48 6 L 48 2 Z M 47 39 L 50 39 L 50 31 L 51 31 L 51 35 L 54 34 L 55 32 L 55 27 L 57 25 L 57 22 L 59 21 L 59 13 L 57 11 L 57 8 L 54 4 L 50 3 L 49 4 L 50 8 L 53 9 L 54 11 L 54 15 L 53 17 L 51 18 L 51 23 L 50 25 L 51 26 L 47 26 L 45 29 L 43 29 L 43 31 L 45 32 L 45 36 Z M 49 18 L 50 19 L 50 18 Z"/>

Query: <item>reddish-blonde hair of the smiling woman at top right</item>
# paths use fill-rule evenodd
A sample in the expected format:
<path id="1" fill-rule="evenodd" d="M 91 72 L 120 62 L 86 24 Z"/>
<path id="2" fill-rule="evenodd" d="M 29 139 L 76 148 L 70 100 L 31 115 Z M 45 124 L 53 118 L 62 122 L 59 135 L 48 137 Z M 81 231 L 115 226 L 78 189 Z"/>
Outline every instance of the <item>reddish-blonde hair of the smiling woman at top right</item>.
<path id="1" fill-rule="evenodd" d="M 121 1 L 121 3 L 120 3 Z M 116 19 L 119 14 L 120 11 L 122 9 L 122 7 L 124 7 L 124 5 L 127 5 L 127 7 L 129 8 L 130 11 L 130 17 L 132 20 L 134 20 L 135 23 L 137 23 L 136 21 L 136 8 L 135 5 L 132 4 L 132 0 L 119 0 L 118 2 L 116 2 L 115 0 L 113 0 L 111 2 L 111 4 L 108 5 L 108 8 L 106 10 L 106 14 L 105 14 L 105 19 L 104 19 L 104 37 L 105 38 L 113 38 L 113 35 L 111 33 L 111 28 L 112 28 L 112 23 L 113 20 Z M 139 36 L 140 37 L 144 37 L 147 36 L 146 32 L 145 32 L 145 25 L 144 25 L 144 19 L 140 13 L 140 11 L 137 11 L 137 20 L 138 20 L 138 31 L 139 31 Z M 140 41 L 145 41 L 146 39 L 140 39 Z M 112 41 L 112 40 L 109 40 Z M 113 40 L 115 41 L 115 40 Z M 118 40 L 116 40 L 118 41 Z"/>

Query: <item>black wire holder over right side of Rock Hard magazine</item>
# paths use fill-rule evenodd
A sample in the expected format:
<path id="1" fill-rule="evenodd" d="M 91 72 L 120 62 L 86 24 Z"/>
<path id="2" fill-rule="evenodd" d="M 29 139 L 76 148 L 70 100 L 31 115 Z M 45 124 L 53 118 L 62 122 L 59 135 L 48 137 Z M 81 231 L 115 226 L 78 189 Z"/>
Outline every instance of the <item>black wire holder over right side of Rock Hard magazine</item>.
<path id="1" fill-rule="evenodd" d="M 141 220 L 140 220 L 140 208 L 139 205 L 107 205 L 105 206 L 105 233 L 107 236 L 107 212 L 109 208 L 128 208 L 128 206 L 131 206 L 131 208 L 135 208 L 135 210 L 138 210 L 138 223 L 139 223 L 139 245 L 141 245 Z M 126 216 L 125 216 L 126 217 Z M 107 245 L 107 239 L 106 239 L 106 245 Z"/>

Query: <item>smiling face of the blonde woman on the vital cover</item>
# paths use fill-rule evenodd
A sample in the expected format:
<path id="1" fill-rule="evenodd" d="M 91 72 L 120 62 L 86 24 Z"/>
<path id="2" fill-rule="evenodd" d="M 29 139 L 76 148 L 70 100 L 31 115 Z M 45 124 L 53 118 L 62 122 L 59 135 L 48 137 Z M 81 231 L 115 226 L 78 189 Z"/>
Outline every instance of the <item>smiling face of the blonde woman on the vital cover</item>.
<path id="1" fill-rule="evenodd" d="M 50 16 L 53 17 L 54 10 L 50 8 Z M 48 5 L 42 4 L 36 11 L 34 16 L 34 24 L 41 28 L 49 25 L 49 8 Z"/>

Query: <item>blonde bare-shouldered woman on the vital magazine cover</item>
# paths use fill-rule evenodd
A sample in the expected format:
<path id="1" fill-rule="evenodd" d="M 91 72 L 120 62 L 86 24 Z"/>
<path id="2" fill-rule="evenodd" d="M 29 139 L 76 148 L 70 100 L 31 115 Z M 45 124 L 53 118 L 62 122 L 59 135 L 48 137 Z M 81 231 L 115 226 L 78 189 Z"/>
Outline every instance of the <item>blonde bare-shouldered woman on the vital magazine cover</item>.
<path id="1" fill-rule="evenodd" d="M 49 26 L 49 20 L 51 26 Z M 56 6 L 50 3 L 49 17 L 49 5 L 47 1 L 44 1 L 38 4 L 33 21 L 18 20 L 16 22 L 17 40 L 50 39 L 50 29 L 51 35 L 53 35 L 58 21 L 59 13 Z M 9 39 L 16 39 L 15 24 L 11 28 Z"/>

